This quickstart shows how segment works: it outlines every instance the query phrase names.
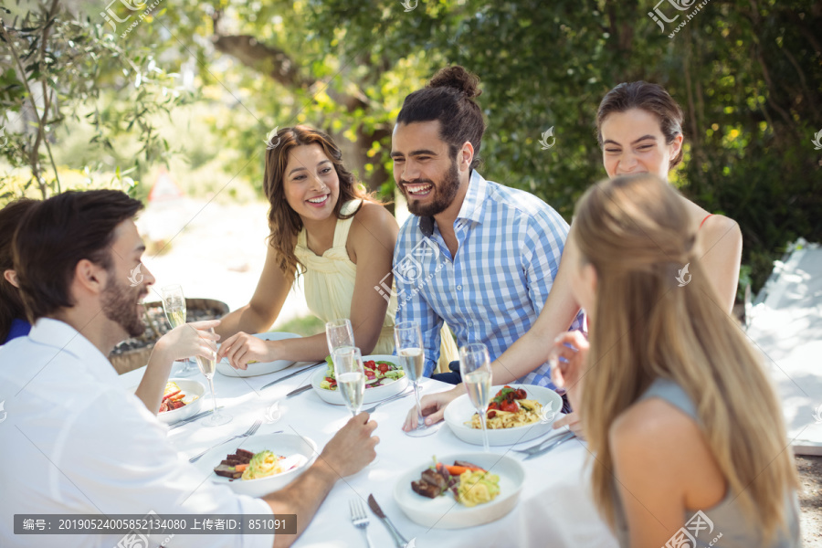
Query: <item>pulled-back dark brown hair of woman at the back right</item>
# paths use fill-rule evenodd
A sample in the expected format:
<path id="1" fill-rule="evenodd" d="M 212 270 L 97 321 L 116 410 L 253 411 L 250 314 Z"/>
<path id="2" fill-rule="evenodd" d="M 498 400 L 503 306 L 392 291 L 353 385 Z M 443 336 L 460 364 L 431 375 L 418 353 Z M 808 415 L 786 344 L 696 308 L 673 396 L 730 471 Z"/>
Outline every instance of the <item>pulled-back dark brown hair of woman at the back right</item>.
<path id="1" fill-rule="evenodd" d="M 659 84 L 641 80 L 627 82 L 608 91 L 599 103 L 599 111 L 596 112 L 596 138 L 600 147 L 602 147 L 602 123 L 606 118 L 614 112 L 625 112 L 631 109 L 641 109 L 656 114 L 666 144 L 670 144 L 677 135 L 682 134 L 682 109 L 665 88 Z M 682 161 L 684 149 L 685 147 L 680 147 L 680 153 L 676 158 L 670 159 L 669 170 Z"/>

